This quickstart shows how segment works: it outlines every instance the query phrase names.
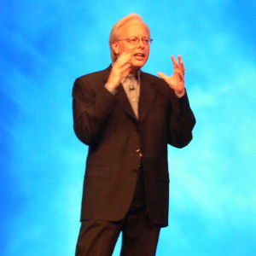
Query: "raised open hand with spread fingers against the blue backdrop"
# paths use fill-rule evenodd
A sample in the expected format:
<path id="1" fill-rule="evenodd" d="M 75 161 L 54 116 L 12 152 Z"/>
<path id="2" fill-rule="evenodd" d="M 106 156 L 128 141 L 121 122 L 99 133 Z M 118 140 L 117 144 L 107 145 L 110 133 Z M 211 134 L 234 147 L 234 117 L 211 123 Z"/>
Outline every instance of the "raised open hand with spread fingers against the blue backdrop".
<path id="1" fill-rule="evenodd" d="M 172 58 L 172 64 L 173 64 L 173 75 L 168 77 L 165 73 L 159 72 L 157 73 L 161 79 L 164 79 L 166 83 L 174 90 L 175 94 L 177 96 L 183 96 L 185 93 L 185 67 L 183 64 L 183 60 L 181 58 L 181 55 L 177 55 L 177 61 L 175 60 L 175 57 L 171 55 Z"/>

